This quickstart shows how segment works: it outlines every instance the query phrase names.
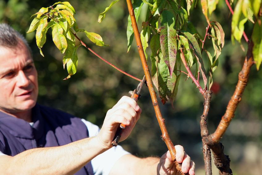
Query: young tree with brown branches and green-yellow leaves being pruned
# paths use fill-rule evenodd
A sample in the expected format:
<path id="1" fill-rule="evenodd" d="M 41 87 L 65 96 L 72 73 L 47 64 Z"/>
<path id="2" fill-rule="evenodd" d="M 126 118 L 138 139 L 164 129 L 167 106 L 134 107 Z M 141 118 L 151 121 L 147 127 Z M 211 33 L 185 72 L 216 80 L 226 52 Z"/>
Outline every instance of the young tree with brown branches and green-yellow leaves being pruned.
<path id="1" fill-rule="evenodd" d="M 112 1 L 109 7 L 99 14 L 99 22 L 102 22 L 107 11 L 118 1 L 119 0 Z M 216 131 L 210 135 L 206 123 L 212 94 L 210 89 L 213 84 L 213 72 L 218 67 L 219 55 L 224 46 L 225 37 L 222 26 L 219 22 L 212 21 L 211 18 L 211 14 L 216 9 L 218 1 L 201 0 L 202 12 L 207 21 L 204 37 L 201 37 L 193 24 L 188 21 L 191 7 L 195 6 L 197 1 L 133 0 L 132 3 L 131 0 L 127 0 L 126 2 L 130 14 L 127 26 L 127 51 L 129 51 L 133 42 L 133 37 L 135 37 L 137 49 L 146 76 L 146 83 L 162 131 L 161 138 L 171 152 L 176 168 L 181 172 L 180 165 L 175 160 L 175 148 L 168 135 L 165 120 L 161 115 L 155 90 L 158 91 L 163 104 L 168 100 L 173 103 L 177 94 L 181 73 L 183 73 L 186 74 L 187 78 L 192 79 L 204 98 L 204 111 L 201 116 L 200 126 L 205 172 L 206 174 L 212 174 L 212 150 L 214 162 L 219 169 L 219 173 L 232 174 L 229 166 L 230 159 L 223 153 L 223 146 L 219 140 L 225 133 L 230 121 L 234 117 L 235 109 L 241 101 L 241 96 L 247 85 L 251 66 L 255 63 L 258 70 L 262 62 L 261 0 L 239 0 L 236 2 L 234 11 L 230 6 L 230 3 L 232 4 L 232 2 L 225 0 L 232 13 L 232 42 L 234 43 L 234 40 L 236 39 L 240 43 L 240 46 L 242 46 L 241 38 L 243 36 L 246 42 L 248 42 L 248 49 L 243 68 L 239 72 L 238 84 L 236 85 L 235 92 L 228 103 L 225 115 L 222 116 Z M 143 4 L 147 4 L 148 9 L 145 22 L 142 23 L 142 31 L 139 32 L 136 19 L 140 15 Z M 39 12 L 34 14 L 36 17 L 33 19 L 28 30 L 28 33 L 36 30 L 36 44 L 40 49 L 41 55 L 43 55 L 41 48 L 46 42 L 47 30 L 49 28 L 52 29 L 53 42 L 61 53 L 65 54 L 63 57 L 63 65 L 64 68 L 66 66 L 69 74 L 66 79 L 70 78 L 77 71 L 77 49 L 79 46 L 85 46 L 100 59 L 103 59 L 87 47 L 87 45 L 79 39 L 76 33 L 85 33 L 86 36 L 96 45 L 106 46 L 100 35 L 78 28 L 74 19 L 74 13 L 74 8 L 69 2 L 57 2 L 50 7 L 43 7 Z M 244 24 L 247 21 L 254 24 L 250 38 L 248 38 L 244 32 Z M 80 45 L 76 45 L 75 38 L 81 42 Z M 205 49 L 204 44 L 207 39 L 212 40 L 213 51 Z M 148 55 L 146 54 L 146 49 L 149 45 L 151 49 L 151 73 L 147 65 Z M 208 58 L 208 65 L 204 65 L 205 61 L 202 59 L 203 51 L 205 51 L 205 57 Z M 116 68 L 116 66 L 111 63 L 107 63 Z M 116 69 L 125 73 L 129 77 L 141 81 L 118 68 Z M 193 71 L 194 73 L 192 73 Z M 207 81 L 207 77 L 209 78 L 209 82 Z M 200 82 L 203 82 L 203 85 L 201 85 Z"/>

